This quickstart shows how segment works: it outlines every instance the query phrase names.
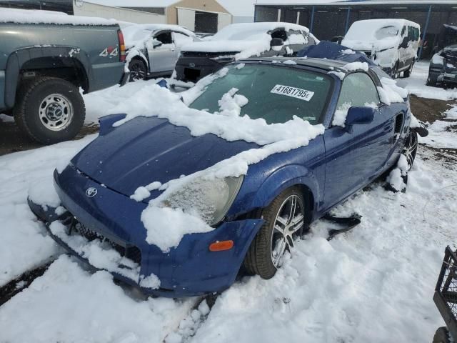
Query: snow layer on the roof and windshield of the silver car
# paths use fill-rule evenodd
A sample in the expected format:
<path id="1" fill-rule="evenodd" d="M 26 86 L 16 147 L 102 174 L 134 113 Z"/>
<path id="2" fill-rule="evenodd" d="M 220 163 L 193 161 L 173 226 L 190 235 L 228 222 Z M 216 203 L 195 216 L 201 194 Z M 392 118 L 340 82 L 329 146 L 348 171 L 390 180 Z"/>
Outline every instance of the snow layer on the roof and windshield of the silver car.
<path id="1" fill-rule="evenodd" d="M 126 42 L 126 48 L 129 49 L 131 46 L 136 46 L 137 44 L 147 39 L 151 32 L 160 31 L 160 30 L 172 30 L 186 34 L 187 36 L 194 37 L 195 34 L 188 29 L 179 25 L 170 25 L 170 24 L 124 24 L 122 27 L 122 33 L 124 34 L 124 40 Z"/>

